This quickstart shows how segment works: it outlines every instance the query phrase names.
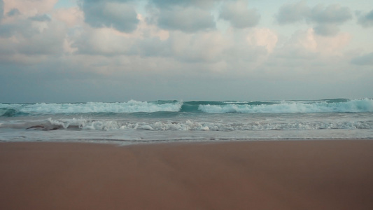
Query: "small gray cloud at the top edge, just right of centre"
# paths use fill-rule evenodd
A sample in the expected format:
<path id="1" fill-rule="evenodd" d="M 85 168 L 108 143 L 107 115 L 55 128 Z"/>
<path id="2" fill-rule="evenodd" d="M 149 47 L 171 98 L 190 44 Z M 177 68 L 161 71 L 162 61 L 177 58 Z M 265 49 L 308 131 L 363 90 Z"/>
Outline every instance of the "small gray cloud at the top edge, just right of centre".
<path id="1" fill-rule="evenodd" d="M 260 15 L 255 9 L 248 9 L 246 3 L 225 3 L 220 18 L 230 22 L 232 27 L 246 28 L 258 25 Z"/>

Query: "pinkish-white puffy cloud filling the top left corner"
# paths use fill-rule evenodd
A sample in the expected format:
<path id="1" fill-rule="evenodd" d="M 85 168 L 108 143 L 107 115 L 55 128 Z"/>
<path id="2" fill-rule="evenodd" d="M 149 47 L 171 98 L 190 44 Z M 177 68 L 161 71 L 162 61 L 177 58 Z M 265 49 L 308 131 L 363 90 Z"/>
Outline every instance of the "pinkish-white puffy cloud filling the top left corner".
<path id="1" fill-rule="evenodd" d="M 52 14 L 56 1 L 6 1 L 6 21 L 0 25 L 0 59 L 13 64 L 37 64 L 64 53 L 68 30 Z M 25 10 L 25 6 L 29 10 Z M 4 53 L 5 52 L 5 53 Z"/>

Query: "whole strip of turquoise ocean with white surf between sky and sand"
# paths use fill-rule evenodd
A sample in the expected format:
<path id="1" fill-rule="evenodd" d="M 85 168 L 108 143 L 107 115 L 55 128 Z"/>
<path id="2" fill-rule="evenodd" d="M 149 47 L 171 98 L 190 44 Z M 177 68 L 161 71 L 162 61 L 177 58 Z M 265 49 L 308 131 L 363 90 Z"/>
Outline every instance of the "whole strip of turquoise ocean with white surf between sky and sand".
<path id="1" fill-rule="evenodd" d="M 0 141 L 373 139 L 373 99 L 0 104 Z"/>

